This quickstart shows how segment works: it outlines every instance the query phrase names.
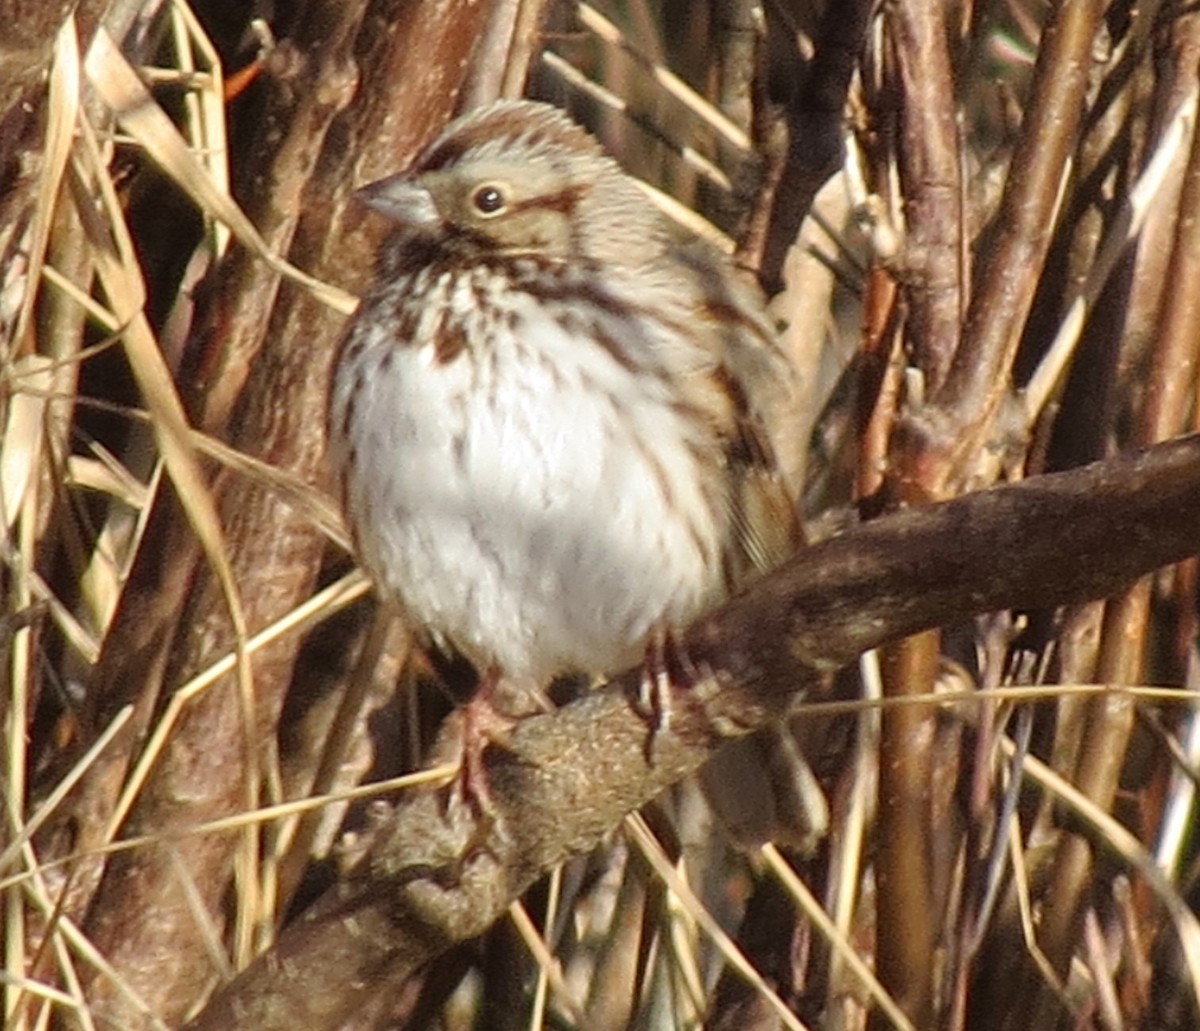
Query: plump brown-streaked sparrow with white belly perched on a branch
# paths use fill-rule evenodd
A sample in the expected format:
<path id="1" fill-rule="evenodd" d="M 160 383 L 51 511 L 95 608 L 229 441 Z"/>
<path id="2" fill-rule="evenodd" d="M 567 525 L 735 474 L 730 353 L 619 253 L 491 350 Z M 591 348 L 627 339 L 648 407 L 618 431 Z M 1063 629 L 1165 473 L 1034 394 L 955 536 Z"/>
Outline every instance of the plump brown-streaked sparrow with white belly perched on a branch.
<path id="1" fill-rule="evenodd" d="M 756 288 L 584 130 L 498 102 L 362 197 L 397 229 L 337 358 L 331 454 L 415 628 L 535 693 L 632 665 L 796 544 Z"/>

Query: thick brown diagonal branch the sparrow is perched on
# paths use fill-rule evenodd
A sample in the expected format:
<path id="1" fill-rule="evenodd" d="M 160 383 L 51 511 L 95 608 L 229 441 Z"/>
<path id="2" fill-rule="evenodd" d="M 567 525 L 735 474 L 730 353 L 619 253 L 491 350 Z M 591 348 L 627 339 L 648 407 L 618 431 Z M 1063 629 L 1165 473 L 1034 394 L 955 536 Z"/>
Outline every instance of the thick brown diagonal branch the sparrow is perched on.
<path id="1" fill-rule="evenodd" d="M 190 1027 L 337 1027 L 380 979 L 480 934 L 542 871 L 694 772 L 724 733 L 784 713 L 815 670 L 971 612 L 1110 593 L 1200 550 L 1198 510 L 1194 436 L 884 517 L 800 552 L 684 635 L 709 676 L 680 694 L 653 761 L 630 703 L 636 673 L 524 720 L 511 751 L 490 756 L 494 821 L 448 814 L 434 793 L 401 801 L 356 875 Z"/>

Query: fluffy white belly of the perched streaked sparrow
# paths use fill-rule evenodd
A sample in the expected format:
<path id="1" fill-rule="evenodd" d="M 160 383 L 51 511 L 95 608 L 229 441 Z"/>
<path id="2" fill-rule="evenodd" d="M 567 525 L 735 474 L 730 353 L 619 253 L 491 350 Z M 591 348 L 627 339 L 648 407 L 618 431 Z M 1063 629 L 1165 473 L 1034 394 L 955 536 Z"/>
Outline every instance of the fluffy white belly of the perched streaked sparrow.
<path id="1" fill-rule="evenodd" d="M 726 505 L 698 475 L 718 444 L 674 401 L 546 316 L 444 364 L 362 337 L 331 421 L 364 564 L 476 665 L 546 681 L 635 661 L 655 623 L 721 592 Z"/>

